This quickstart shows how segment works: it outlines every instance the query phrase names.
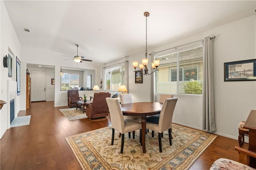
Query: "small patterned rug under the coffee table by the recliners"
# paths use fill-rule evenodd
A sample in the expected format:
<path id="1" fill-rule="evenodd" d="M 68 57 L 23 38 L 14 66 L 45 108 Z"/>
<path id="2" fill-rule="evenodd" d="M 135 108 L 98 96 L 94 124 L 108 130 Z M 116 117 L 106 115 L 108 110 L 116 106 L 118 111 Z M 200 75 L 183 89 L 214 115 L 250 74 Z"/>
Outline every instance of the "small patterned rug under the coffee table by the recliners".
<path id="1" fill-rule="evenodd" d="M 77 109 L 76 110 L 76 107 L 71 107 L 71 108 L 67 108 L 67 109 L 60 109 L 61 113 L 63 113 L 66 118 L 68 118 L 68 120 L 72 121 L 72 120 L 77 120 L 77 119 L 83 119 L 83 118 L 86 118 L 86 112 L 84 111 L 84 114 L 83 114 L 83 111 L 82 109 Z"/>

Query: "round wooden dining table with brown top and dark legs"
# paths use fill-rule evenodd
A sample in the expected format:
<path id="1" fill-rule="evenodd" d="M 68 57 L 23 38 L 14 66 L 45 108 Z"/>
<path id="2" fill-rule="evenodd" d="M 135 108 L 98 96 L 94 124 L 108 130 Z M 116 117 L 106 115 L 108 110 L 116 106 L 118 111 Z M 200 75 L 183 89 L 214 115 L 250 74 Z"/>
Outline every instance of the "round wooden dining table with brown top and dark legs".
<path id="1" fill-rule="evenodd" d="M 140 116 L 142 128 L 142 151 L 146 153 L 145 135 L 147 116 L 157 115 L 161 112 L 162 103 L 159 102 L 136 102 L 129 104 L 121 104 L 123 115 Z"/>

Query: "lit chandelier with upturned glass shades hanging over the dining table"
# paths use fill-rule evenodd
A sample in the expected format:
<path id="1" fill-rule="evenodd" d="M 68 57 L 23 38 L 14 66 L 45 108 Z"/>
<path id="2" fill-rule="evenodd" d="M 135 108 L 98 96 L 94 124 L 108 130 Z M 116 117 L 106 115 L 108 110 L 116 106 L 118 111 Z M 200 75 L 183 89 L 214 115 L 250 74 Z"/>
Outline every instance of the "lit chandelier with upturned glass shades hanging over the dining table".
<path id="1" fill-rule="evenodd" d="M 157 67 L 160 64 L 160 60 L 154 60 L 153 63 L 151 63 L 151 67 L 153 68 L 152 73 L 148 73 L 148 50 L 147 50 L 147 17 L 149 16 L 149 12 L 144 12 L 144 16 L 146 17 L 146 51 L 145 51 L 145 59 L 141 59 L 142 63 L 139 64 L 139 68 L 141 72 L 140 74 L 143 75 L 150 75 L 154 72 L 158 71 Z M 138 61 L 133 61 L 132 66 L 134 68 L 134 72 L 136 71 L 136 68 L 138 67 Z"/>

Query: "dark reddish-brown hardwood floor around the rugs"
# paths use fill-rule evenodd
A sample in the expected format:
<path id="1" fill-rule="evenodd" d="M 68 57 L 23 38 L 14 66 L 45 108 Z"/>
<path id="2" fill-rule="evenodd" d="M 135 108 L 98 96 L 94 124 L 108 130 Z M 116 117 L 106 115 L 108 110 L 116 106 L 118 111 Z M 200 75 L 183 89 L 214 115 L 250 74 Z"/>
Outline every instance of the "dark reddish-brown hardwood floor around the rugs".
<path id="1" fill-rule="evenodd" d="M 110 126 L 110 118 L 90 121 L 88 118 L 69 121 L 54 107 L 54 102 L 32 102 L 18 116 L 31 115 L 30 125 L 12 127 L 1 143 L 1 170 L 81 170 L 65 137 Z M 229 158 L 246 164 L 246 156 L 234 150 L 238 141 L 218 136 L 190 167 L 207 170 L 214 160 Z M 244 147 L 248 145 L 244 144 Z"/>

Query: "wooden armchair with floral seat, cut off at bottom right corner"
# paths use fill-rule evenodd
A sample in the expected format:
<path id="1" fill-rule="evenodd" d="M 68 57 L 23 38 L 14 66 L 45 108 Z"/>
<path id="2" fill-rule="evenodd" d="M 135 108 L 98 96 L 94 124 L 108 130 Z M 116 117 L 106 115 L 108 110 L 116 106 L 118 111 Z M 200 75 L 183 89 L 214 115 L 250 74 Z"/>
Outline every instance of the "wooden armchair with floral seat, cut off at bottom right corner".
<path id="1" fill-rule="evenodd" d="M 235 150 L 238 152 L 241 152 L 243 154 L 247 154 L 247 165 L 242 164 L 240 162 L 236 162 L 234 160 L 230 159 L 225 159 L 225 158 L 220 158 L 217 159 L 216 161 L 213 162 L 210 170 L 234 170 L 234 169 L 239 169 L 239 170 L 256 170 L 255 167 L 250 167 L 250 164 L 248 162 L 248 157 L 252 156 L 256 158 L 256 153 L 252 152 L 247 149 L 243 149 L 241 147 L 235 147 Z"/>

